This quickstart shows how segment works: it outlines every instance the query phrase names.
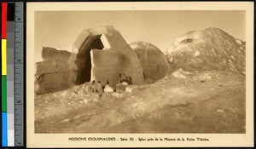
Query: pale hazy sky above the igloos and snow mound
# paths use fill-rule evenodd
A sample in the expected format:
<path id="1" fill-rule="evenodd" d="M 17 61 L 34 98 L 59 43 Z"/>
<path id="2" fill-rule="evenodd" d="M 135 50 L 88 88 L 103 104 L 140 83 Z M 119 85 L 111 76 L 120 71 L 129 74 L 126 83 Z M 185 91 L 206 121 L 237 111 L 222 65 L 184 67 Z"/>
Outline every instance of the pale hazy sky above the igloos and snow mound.
<path id="1" fill-rule="evenodd" d="M 245 41 L 245 11 L 37 11 L 35 54 L 42 47 L 71 51 L 84 28 L 112 25 L 127 43 L 144 41 L 165 51 L 186 32 L 218 27 Z"/>

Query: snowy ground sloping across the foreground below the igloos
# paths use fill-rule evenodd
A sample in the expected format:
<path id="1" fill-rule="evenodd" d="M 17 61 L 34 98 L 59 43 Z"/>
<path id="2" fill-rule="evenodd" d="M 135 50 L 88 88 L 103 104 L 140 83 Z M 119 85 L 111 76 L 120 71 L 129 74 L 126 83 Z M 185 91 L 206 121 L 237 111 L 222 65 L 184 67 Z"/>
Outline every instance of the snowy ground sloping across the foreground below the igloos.
<path id="1" fill-rule="evenodd" d="M 172 74 L 131 93 L 35 96 L 36 133 L 245 133 L 245 76 Z"/>

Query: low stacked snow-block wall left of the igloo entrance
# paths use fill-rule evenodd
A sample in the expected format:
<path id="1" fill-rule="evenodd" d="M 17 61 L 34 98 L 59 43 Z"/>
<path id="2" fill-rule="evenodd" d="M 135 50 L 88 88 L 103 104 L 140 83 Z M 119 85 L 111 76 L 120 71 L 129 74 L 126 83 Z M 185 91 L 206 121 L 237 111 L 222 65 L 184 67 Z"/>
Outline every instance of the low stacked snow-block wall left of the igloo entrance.
<path id="1" fill-rule="evenodd" d="M 44 94 L 68 88 L 70 52 L 43 47 L 43 61 L 35 64 L 35 93 Z"/>

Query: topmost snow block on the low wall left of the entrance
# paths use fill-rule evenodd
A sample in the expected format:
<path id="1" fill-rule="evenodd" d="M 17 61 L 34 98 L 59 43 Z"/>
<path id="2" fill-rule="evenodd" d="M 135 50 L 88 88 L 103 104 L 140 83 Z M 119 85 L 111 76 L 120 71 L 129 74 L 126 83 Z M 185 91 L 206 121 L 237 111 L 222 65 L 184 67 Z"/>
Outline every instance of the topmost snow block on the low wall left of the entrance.
<path id="1" fill-rule="evenodd" d="M 70 58 L 70 52 L 66 50 L 57 50 L 54 48 L 43 47 L 41 56 L 43 60 L 67 61 Z"/>

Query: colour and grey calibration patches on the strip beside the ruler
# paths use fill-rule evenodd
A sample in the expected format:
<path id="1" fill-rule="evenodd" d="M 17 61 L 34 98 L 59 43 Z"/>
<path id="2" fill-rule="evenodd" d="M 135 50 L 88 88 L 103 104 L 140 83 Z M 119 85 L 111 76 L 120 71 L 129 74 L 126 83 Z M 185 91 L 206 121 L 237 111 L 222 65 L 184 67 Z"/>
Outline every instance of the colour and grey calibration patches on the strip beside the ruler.
<path id="1" fill-rule="evenodd" d="M 2 146 L 15 146 L 15 3 L 2 3 Z"/>

